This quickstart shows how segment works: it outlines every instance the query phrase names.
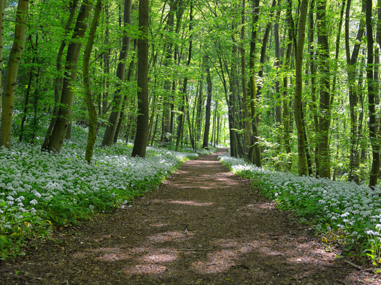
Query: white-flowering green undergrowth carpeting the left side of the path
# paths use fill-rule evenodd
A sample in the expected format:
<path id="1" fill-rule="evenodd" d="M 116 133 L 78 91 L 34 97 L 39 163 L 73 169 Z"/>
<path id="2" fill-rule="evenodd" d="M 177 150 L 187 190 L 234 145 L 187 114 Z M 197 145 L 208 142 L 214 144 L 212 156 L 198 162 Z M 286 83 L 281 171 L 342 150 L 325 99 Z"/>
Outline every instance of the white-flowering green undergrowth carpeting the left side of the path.
<path id="1" fill-rule="evenodd" d="M 26 246 L 49 237 L 55 226 L 125 207 L 198 156 L 148 147 L 146 158 L 131 158 L 132 145 L 118 142 L 96 147 L 88 165 L 86 137 L 87 129 L 74 126 L 60 154 L 16 142 L 10 150 L 0 148 L 0 260 L 24 255 Z"/>

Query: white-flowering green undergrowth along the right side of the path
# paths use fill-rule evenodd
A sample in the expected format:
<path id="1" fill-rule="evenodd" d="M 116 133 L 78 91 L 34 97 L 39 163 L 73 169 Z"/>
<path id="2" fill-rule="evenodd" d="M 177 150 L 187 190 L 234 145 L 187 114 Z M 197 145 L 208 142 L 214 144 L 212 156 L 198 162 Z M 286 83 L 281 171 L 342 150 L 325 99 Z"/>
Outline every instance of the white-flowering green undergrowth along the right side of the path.
<path id="1" fill-rule="evenodd" d="M 240 158 L 220 156 L 234 174 L 251 178 L 254 187 L 308 223 L 321 240 L 344 248 L 344 255 L 381 261 L 380 187 L 269 171 Z"/>

